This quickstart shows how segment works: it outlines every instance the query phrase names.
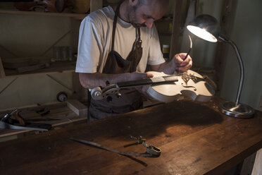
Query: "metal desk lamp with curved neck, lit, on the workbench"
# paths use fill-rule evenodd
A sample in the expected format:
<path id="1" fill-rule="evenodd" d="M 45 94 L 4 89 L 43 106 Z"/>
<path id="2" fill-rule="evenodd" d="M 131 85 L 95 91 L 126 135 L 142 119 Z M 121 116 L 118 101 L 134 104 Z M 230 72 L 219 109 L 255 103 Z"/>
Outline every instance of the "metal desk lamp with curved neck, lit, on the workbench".
<path id="1" fill-rule="evenodd" d="M 202 14 L 196 16 L 192 22 L 187 25 L 187 29 L 192 32 L 197 37 L 200 37 L 203 40 L 209 42 L 226 42 L 231 44 L 237 54 L 237 59 L 240 67 L 240 80 L 239 87 L 237 91 L 236 102 L 223 102 L 219 104 L 218 109 L 228 116 L 234 116 L 237 118 L 250 118 L 254 115 L 254 109 L 249 107 L 247 104 L 239 103 L 239 98 L 242 90 L 243 80 L 244 80 L 244 67 L 243 62 L 240 56 L 240 53 L 237 49 L 237 45 L 232 42 L 227 36 L 223 35 L 220 32 L 220 25 L 218 20 L 213 16 Z"/>

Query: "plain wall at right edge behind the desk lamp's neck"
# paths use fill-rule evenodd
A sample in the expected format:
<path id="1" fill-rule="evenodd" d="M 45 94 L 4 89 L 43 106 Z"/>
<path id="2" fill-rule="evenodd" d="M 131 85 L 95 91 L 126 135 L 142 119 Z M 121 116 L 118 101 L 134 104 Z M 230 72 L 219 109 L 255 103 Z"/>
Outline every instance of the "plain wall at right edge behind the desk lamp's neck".
<path id="1" fill-rule="evenodd" d="M 238 0 L 232 32 L 228 35 L 237 44 L 244 64 L 244 85 L 240 102 L 258 109 L 262 97 L 262 23 L 261 0 Z M 220 96 L 235 102 L 239 85 L 239 64 L 228 44 L 223 59 Z"/>

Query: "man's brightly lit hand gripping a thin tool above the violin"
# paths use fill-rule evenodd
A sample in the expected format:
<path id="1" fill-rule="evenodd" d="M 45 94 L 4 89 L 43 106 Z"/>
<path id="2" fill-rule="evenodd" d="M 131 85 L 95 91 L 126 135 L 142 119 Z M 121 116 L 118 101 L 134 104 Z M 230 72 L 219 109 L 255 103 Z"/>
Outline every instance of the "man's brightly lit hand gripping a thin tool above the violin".
<path id="1" fill-rule="evenodd" d="M 177 72 L 185 72 L 187 70 L 189 70 L 189 68 L 192 67 L 192 58 L 188 55 L 187 59 L 185 59 L 183 61 L 183 59 L 185 58 L 185 56 L 187 55 L 187 53 L 180 53 L 180 54 L 176 54 L 172 61 L 175 62 L 175 71 Z"/>

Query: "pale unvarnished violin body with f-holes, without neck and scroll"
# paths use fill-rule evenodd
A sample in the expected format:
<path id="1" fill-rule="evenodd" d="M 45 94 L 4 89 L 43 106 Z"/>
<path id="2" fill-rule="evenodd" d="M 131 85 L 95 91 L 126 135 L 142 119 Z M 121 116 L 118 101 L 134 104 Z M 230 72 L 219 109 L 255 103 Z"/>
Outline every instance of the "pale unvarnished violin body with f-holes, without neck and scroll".
<path id="1" fill-rule="evenodd" d="M 149 73 L 154 77 L 166 76 L 163 72 L 149 71 Z M 150 97 L 166 103 L 173 102 L 180 96 L 189 97 L 197 102 L 208 102 L 215 95 L 215 90 L 205 78 L 191 70 L 177 75 L 177 81 L 165 85 L 147 85 L 142 90 Z"/>

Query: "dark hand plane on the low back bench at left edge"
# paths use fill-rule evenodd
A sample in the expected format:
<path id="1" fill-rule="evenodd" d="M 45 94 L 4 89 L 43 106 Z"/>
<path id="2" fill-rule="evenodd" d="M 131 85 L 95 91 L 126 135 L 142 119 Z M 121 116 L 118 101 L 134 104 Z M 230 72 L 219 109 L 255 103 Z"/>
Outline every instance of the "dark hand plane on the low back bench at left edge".
<path id="1" fill-rule="evenodd" d="M 35 130 L 35 131 L 49 131 L 51 129 L 51 124 L 47 123 L 30 123 L 20 116 L 19 112 L 16 114 L 18 109 L 11 111 L 9 114 L 1 117 L 0 128 L 4 129 L 21 129 L 21 130 Z M 11 119 L 14 116 L 15 119 Z"/>

